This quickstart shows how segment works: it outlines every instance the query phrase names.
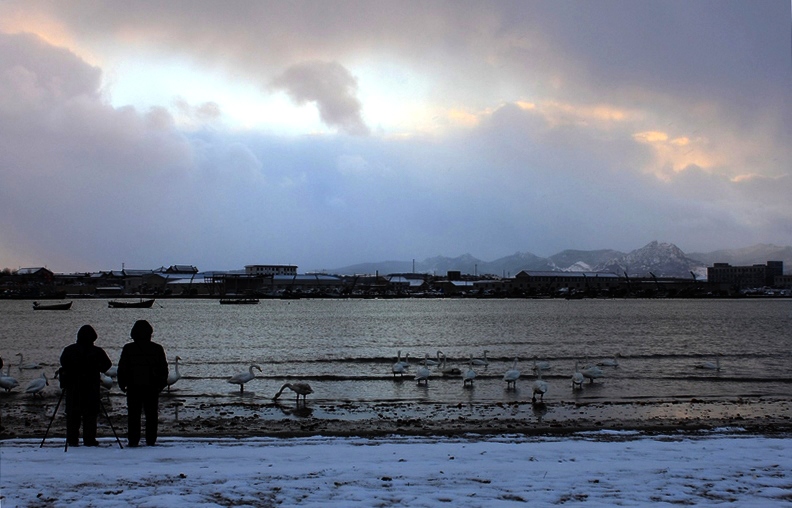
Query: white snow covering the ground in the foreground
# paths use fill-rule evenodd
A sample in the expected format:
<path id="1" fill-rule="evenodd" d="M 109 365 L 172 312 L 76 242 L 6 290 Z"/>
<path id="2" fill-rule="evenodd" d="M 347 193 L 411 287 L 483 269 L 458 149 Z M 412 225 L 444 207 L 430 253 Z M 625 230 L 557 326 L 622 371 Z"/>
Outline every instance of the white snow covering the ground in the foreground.
<path id="1" fill-rule="evenodd" d="M 123 441 L 122 441 L 123 442 Z M 163 438 L 155 447 L 0 442 L 12 506 L 792 506 L 792 439 Z"/>

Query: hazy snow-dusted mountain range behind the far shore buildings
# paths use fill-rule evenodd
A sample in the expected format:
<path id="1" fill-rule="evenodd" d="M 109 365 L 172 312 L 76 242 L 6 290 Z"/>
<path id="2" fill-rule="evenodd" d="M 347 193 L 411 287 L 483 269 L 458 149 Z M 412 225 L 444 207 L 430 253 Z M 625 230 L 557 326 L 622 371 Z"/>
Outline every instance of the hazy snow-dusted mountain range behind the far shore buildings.
<path id="1" fill-rule="evenodd" d="M 339 275 L 393 273 L 429 273 L 445 276 L 458 270 L 470 275 L 495 275 L 513 277 L 522 270 L 556 272 L 612 272 L 627 273 L 630 277 L 696 278 L 707 277 L 707 267 L 714 263 L 729 263 L 733 266 L 765 264 L 767 261 L 783 261 L 784 272 L 792 267 L 792 247 L 772 244 L 757 244 L 740 249 L 686 254 L 672 243 L 653 241 L 631 252 L 617 250 L 564 250 L 550 257 L 540 257 L 530 252 L 517 252 L 494 261 L 483 261 L 470 254 L 450 258 L 436 256 L 423 261 L 381 261 L 350 265 L 329 273 Z"/>

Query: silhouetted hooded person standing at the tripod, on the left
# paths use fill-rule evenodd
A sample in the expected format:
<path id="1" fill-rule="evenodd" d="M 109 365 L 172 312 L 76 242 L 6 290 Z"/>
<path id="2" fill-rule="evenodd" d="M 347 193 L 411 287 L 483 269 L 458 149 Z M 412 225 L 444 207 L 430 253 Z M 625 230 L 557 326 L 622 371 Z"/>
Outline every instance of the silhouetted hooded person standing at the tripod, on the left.
<path id="1" fill-rule="evenodd" d="M 59 379 L 66 395 L 66 441 L 78 446 L 80 423 L 83 444 L 97 446 L 96 418 L 99 415 L 99 373 L 113 364 L 104 349 L 95 346 L 96 330 L 83 325 L 77 332 L 77 342 L 61 353 Z"/>

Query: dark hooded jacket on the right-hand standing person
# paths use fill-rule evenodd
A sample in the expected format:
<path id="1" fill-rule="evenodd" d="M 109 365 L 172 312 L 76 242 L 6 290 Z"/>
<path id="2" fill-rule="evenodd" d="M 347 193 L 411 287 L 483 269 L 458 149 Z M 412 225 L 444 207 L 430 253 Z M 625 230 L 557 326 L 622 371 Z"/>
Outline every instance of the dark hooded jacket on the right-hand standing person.
<path id="1" fill-rule="evenodd" d="M 144 323 L 144 324 L 142 324 Z M 151 341 L 151 325 L 138 321 L 132 328 L 132 340 L 124 346 L 118 360 L 118 386 L 122 391 L 159 393 L 168 382 L 168 359 L 165 349 Z"/>

